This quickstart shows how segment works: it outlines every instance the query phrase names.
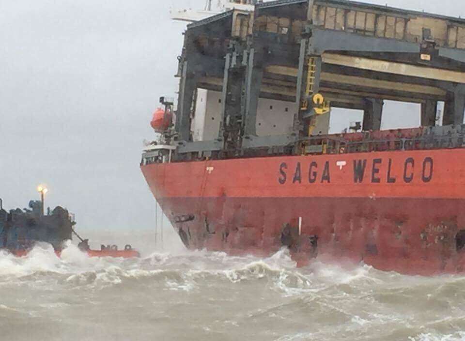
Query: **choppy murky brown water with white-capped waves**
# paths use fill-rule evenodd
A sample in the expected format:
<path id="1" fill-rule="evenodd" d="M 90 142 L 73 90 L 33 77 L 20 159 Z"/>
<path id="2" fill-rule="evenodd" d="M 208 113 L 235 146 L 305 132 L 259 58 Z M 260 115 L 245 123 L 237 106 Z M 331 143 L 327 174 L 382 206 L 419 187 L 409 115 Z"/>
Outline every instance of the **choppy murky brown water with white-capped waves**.
<path id="1" fill-rule="evenodd" d="M 0 340 L 465 340 L 465 277 L 151 251 L 0 253 Z"/>

